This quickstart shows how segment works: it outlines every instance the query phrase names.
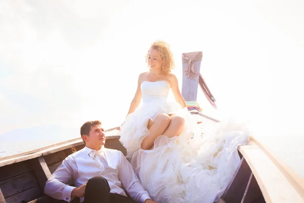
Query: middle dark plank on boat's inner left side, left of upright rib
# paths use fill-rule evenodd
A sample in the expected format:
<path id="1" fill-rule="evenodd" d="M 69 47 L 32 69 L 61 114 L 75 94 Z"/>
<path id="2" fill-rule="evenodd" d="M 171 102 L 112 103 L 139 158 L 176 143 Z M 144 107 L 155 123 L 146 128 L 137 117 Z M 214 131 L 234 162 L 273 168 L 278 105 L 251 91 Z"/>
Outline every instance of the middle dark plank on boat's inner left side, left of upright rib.
<path id="1" fill-rule="evenodd" d="M 0 182 L 0 188 L 5 198 L 39 185 L 32 172 L 21 174 Z"/>

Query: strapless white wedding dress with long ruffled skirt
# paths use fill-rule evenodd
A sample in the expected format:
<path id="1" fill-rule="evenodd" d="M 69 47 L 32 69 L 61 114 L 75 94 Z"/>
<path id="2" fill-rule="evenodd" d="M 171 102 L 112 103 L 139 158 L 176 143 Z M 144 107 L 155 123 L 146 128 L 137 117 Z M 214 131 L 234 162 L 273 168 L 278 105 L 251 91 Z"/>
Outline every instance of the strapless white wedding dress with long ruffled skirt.
<path id="1" fill-rule="evenodd" d="M 142 106 L 127 116 L 120 132 L 127 158 L 156 202 L 217 201 L 240 163 L 237 148 L 248 142 L 249 128 L 227 120 L 202 129 L 186 108 L 167 101 L 169 90 L 166 81 L 141 84 Z M 161 113 L 183 116 L 182 132 L 171 139 L 160 136 L 153 150 L 142 150 L 148 120 Z"/>

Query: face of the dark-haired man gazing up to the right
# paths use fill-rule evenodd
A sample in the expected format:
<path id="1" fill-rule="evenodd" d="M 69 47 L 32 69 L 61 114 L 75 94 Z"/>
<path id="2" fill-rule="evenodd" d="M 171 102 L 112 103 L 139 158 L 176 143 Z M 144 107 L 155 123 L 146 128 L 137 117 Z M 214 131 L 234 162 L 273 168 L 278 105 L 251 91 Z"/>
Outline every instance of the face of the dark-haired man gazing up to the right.
<path id="1" fill-rule="evenodd" d="M 86 136 L 86 143 L 91 146 L 102 146 L 105 144 L 104 129 L 101 125 L 91 126 L 89 136 Z"/>

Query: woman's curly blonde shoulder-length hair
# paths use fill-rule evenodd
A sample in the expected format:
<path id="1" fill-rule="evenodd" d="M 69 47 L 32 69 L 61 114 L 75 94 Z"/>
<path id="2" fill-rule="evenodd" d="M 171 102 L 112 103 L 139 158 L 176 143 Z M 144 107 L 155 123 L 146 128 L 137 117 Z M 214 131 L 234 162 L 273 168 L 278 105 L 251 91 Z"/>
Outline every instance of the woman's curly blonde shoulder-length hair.
<path id="1" fill-rule="evenodd" d="M 174 69 L 174 59 L 173 59 L 173 54 L 169 48 L 169 45 L 161 40 L 155 41 L 154 43 L 151 44 L 148 53 L 146 54 L 146 63 L 149 65 L 149 51 L 150 49 L 157 49 L 160 54 L 161 57 L 164 60 L 164 64 L 163 64 L 163 74 L 164 75 L 168 75 L 171 73 L 172 69 Z"/>

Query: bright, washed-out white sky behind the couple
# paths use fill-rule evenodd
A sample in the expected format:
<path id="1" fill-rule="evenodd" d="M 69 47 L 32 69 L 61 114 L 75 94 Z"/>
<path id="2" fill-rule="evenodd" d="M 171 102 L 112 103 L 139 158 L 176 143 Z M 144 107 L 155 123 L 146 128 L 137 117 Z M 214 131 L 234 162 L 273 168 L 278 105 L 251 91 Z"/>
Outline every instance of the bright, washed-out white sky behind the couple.
<path id="1" fill-rule="evenodd" d="M 260 137 L 302 136 L 303 10 L 300 0 L 0 0 L 0 135 L 119 126 L 150 44 L 164 40 L 180 87 L 181 54 L 203 51 L 218 106 L 199 89 L 205 114 L 247 120 Z"/>

